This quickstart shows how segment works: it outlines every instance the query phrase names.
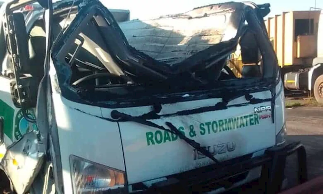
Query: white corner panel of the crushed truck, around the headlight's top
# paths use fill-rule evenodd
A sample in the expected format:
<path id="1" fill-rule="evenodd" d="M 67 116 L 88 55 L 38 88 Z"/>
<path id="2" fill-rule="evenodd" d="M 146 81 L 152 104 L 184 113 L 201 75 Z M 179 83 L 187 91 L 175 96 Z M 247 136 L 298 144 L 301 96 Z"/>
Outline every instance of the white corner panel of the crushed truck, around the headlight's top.
<path id="1" fill-rule="evenodd" d="M 72 193 L 70 155 L 125 171 L 118 123 L 96 118 L 102 115 L 100 107 L 71 102 L 57 93 L 52 97 L 65 193 Z"/>

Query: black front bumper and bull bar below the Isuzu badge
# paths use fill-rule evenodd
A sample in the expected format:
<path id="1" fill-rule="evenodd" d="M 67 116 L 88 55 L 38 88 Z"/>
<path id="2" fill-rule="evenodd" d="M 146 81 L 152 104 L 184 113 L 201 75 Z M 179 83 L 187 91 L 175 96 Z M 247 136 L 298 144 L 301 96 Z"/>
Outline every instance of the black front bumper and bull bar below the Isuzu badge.
<path id="1" fill-rule="evenodd" d="M 300 142 L 286 143 L 265 151 L 265 154 L 251 158 L 248 154 L 220 164 L 194 169 L 167 177 L 166 181 L 154 183 L 140 194 L 152 193 L 204 193 L 221 187 L 230 188 L 235 182 L 245 179 L 249 170 L 261 166 L 258 181 L 259 193 L 278 193 L 284 179 L 287 156 L 297 152 L 298 180 L 307 181 L 306 151 Z M 133 185 L 134 186 L 134 185 Z"/>

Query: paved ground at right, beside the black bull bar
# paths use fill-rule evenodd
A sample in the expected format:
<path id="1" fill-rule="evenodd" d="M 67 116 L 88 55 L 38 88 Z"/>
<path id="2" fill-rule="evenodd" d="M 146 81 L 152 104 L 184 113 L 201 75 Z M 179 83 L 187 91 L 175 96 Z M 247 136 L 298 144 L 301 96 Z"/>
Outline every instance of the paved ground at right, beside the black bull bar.
<path id="1" fill-rule="evenodd" d="M 288 141 L 301 141 L 307 151 L 308 178 L 323 175 L 323 108 L 298 107 L 286 110 Z M 296 158 L 291 157 L 287 175 L 296 169 Z"/>

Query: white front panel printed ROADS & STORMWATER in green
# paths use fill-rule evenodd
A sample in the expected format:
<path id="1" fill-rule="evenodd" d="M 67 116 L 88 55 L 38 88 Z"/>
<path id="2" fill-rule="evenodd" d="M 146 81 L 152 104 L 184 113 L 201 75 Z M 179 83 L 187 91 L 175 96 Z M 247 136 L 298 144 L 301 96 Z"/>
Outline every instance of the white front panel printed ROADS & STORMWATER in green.
<path id="1" fill-rule="evenodd" d="M 260 99 L 271 97 L 269 91 L 252 95 Z M 219 161 L 275 145 L 275 123 L 272 122 L 270 110 L 259 113 L 254 112 L 255 107 L 251 104 L 240 107 L 238 104 L 247 102 L 241 97 L 232 101 L 227 109 L 205 112 L 207 107 L 214 107 L 217 102 L 221 102 L 221 99 L 163 104 L 159 118 L 149 121 L 166 128 L 165 122 L 171 122 L 186 137 L 206 147 Z M 256 105 L 268 106 L 270 102 Z M 147 108 L 119 111 L 140 116 Z M 102 108 L 104 116 L 109 112 L 109 109 Z M 132 121 L 120 121 L 119 129 L 129 184 L 169 178 L 173 174 L 214 164 L 187 142 L 167 131 Z"/>

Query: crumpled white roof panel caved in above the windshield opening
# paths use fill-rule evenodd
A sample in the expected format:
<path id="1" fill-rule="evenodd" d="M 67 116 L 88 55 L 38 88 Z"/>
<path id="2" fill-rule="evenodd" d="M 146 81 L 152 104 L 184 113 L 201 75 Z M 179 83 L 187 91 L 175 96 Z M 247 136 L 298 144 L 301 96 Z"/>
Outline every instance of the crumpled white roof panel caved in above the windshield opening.
<path id="1" fill-rule="evenodd" d="M 120 23 L 131 46 L 165 63 L 180 63 L 210 46 L 233 39 L 243 4 L 196 8 L 183 14 Z M 237 10 L 238 9 L 238 10 Z"/>

